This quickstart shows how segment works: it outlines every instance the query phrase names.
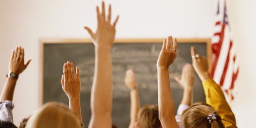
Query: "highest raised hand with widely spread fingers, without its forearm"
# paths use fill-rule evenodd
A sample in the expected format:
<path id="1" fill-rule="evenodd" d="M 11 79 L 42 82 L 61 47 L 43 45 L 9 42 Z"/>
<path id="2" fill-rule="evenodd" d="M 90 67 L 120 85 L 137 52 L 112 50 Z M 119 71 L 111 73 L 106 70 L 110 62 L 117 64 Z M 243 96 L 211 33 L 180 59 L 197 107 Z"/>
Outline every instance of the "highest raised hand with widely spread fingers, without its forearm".
<path id="1" fill-rule="evenodd" d="M 93 44 L 95 47 L 98 46 L 113 46 L 113 41 L 115 38 L 115 26 L 117 24 L 119 16 L 115 19 L 115 22 L 111 24 L 111 5 L 108 6 L 108 17 L 105 14 L 105 3 L 102 2 L 102 12 L 99 12 L 99 7 L 96 7 L 97 11 L 97 31 L 93 31 L 87 26 L 84 27 L 90 34 Z"/>

